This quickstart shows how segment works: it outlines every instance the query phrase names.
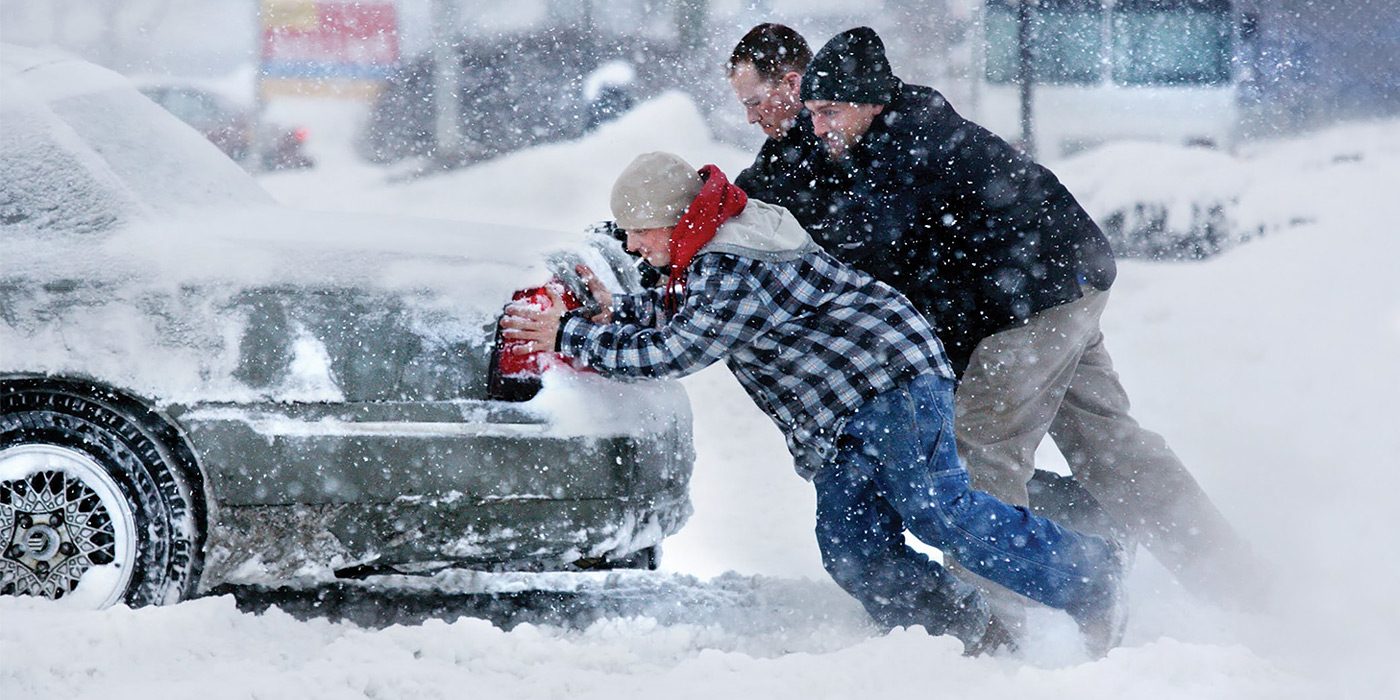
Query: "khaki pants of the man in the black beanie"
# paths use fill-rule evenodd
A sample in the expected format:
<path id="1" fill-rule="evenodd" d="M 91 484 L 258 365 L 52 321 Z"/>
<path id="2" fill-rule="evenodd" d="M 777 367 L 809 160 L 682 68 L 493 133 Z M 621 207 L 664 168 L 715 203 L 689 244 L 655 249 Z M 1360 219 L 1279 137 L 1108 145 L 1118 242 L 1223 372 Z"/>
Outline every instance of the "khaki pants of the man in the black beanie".
<path id="1" fill-rule="evenodd" d="M 973 489 L 1028 505 L 1036 447 L 1049 433 L 1114 529 L 1141 542 L 1194 595 L 1247 606 L 1261 570 L 1166 441 L 1128 416 L 1099 329 L 1109 294 L 1084 291 L 973 351 L 955 416 Z M 1019 623 L 1025 599 L 962 567 L 953 571 L 987 591 L 1004 622 Z"/>

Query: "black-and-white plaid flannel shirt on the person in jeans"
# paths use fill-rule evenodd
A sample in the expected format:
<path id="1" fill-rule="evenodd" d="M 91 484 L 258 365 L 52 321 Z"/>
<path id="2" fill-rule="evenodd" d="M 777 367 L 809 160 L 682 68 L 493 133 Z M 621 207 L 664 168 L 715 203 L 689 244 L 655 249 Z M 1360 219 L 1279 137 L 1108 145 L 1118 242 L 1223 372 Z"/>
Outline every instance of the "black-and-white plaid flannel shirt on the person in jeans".
<path id="1" fill-rule="evenodd" d="M 787 262 L 701 252 L 673 316 L 659 290 L 617 297 L 612 323 L 570 315 L 559 339 L 606 377 L 685 377 L 725 360 L 805 479 L 867 400 L 923 374 L 953 377 L 909 300 L 815 246 Z"/>

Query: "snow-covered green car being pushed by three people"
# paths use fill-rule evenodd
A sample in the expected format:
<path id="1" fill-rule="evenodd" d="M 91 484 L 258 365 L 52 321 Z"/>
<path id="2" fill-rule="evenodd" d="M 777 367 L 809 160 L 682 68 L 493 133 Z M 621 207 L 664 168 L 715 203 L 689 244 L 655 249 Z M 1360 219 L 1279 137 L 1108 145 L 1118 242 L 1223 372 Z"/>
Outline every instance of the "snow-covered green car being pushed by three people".
<path id="1" fill-rule="evenodd" d="M 640 284 L 612 238 L 287 209 L 56 53 L 0 94 L 0 592 L 645 567 L 689 515 L 678 382 L 489 392 L 518 290 Z"/>

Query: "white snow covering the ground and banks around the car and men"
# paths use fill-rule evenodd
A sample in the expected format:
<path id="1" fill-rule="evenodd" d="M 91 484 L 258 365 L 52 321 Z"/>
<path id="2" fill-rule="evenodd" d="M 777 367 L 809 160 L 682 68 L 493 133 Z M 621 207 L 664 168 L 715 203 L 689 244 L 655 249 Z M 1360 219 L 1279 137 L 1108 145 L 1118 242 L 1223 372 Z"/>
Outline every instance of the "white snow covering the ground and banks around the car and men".
<path id="1" fill-rule="evenodd" d="M 353 109 L 279 111 L 314 125 L 321 167 L 260 181 L 309 209 L 577 230 L 608 218 L 612 179 L 640 151 L 731 174 L 750 158 L 666 95 L 581 141 L 405 181 L 350 155 Z M 372 629 L 244 613 L 230 596 L 104 612 L 4 598 L 0 697 L 1400 697 L 1400 123 L 1212 160 L 1203 174 L 1200 154 L 1124 147 L 1056 169 L 1091 209 L 1218 195 L 1203 185 L 1219 182 L 1238 199 L 1236 223 L 1267 231 L 1203 263 L 1121 263 L 1105 318 L 1137 417 L 1273 563 L 1267 613 L 1204 606 L 1144 554 L 1126 644 L 1102 661 L 1086 662 L 1072 623 L 1050 612 L 1033 615 L 1035 636 L 1012 657 L 963 658 L 956 641 L 917 629 L 879 634 L 822 571 L 812 489 L 780 434 L 714 367 L 685 379 L 696 514 L 666 542 L 662 570 L 538 581 L 631 587 L 644 602 L 630 615 Z"/>

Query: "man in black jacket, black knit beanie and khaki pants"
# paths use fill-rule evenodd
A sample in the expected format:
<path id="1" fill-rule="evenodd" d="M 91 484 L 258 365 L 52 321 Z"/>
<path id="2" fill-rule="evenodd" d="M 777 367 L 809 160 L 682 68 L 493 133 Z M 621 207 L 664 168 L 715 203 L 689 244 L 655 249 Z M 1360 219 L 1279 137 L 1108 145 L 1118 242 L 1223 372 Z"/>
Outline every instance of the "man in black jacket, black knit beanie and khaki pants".
<path id="1" fill-rule="evenodd" d="M 850 176 L 812 234 L 934 322 L 960 375 L 958 449 L 973 487 L 1026 505 L 1049 433 L 1075 479 L 1189 589 L 1253 595 L 1249 547 L 1162 437 L 1128 416 L 1099 329 L 1113 253 L 1054 174 L 896 78 L 865 27 L 818 52 L 801 97 Z"/>

